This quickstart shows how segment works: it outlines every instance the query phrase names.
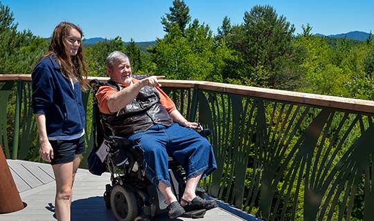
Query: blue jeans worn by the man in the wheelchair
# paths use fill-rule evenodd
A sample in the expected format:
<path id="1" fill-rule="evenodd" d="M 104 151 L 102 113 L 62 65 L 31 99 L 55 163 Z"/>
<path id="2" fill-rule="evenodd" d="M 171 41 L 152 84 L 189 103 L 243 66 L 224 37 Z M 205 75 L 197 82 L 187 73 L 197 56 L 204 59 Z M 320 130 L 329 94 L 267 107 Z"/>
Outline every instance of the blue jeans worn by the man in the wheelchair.
<path id="1" fill-rule="evenodd" d="M 213 148 L 208 140 L 179 124 L 156 124 L 143 133 L 131 135 L 129 140 L 143 150 L 145 174 L 155 186 L 160 181 L 171 186 L 168 154 L 186 170 L 187 180 L 200 173 L 203 173 L 204 178 L 217 168 Z"/>

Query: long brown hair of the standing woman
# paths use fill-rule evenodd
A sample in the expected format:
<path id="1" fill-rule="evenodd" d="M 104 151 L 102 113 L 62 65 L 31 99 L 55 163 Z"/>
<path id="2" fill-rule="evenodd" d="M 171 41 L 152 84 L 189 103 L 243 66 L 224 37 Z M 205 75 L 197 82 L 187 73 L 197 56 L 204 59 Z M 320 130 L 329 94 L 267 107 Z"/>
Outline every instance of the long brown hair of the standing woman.
<path id="1" fill-rule="evenodd" d="M 83 36 L 82 29 L 75 26 L 73 23 L 61 22 L 53 30 L 51 44 L 49 45 L 48 52 L 44 57 L 55 55 L 57 57 L 58 64 L 61 68 L 61 73 L 66 79 L 75 79 L 80 82 L 80 86 L 83 91 L 88 89 L 87 81 L 82 77 L 84 73 L 85 79 L 88 77 L 87 64 L 84 61 L 83 45 L 81 44 L 78 48 L 77 55 L 71 56 L 68 47 L 66 46 L 66 35 L 68 35 L 71 29 L 78 30 L 80 36 Z"/>

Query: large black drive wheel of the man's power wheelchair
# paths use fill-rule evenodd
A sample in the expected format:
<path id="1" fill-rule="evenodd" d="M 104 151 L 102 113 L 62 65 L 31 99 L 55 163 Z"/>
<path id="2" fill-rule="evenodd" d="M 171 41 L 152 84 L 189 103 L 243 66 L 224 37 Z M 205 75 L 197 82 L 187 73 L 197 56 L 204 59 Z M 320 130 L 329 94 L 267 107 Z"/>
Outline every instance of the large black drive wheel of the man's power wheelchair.
<path id="1" fill-rule="evenodd" d="M 138 215 L 135 194 L 121 185 L 113 186 L 110 194 L 110 206 L 118 221 L 133 221 Z"/>

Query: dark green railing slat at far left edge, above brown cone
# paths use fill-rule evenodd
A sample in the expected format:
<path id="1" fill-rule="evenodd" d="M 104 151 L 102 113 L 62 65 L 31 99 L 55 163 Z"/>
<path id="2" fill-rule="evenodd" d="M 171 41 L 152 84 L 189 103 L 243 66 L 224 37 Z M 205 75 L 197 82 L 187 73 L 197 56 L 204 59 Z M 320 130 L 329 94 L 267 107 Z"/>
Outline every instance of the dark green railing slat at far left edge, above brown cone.
<path id="1" fill-rule="evenodd" d="M 7 130 L 7 108 L 8 108 L 8 99 L 9 95 L 12 92 L 13 85 L 15 81 L 6 81 L 4 83 L 0 83 L 0 135 L 1 140 L 0 144 L 4 148 L 4 153 L 6 158 L 10 158 L 10 150 L 8 144 L 8 130 Z"/>

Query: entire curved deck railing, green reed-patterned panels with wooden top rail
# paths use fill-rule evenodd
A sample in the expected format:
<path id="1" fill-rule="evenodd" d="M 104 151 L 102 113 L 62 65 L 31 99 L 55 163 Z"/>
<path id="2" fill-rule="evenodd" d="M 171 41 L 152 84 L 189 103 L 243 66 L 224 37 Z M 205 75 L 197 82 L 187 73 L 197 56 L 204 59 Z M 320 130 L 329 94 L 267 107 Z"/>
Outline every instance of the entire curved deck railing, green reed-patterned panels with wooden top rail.
<path id="1" fill-rule="evenodd" d="M 0 75 L 0 82 L 6 156 L 39 160 L 30 75 Z M 374 217 L 374 102 L 205 81 L 161 84 L 182 114 L 213 132 L 218 169 L 202 183 L 210 195 L 266 220 Z M 83 97 L 87 119 L 90 96 Z M 90 131 L 87 124 L 87 153 Z"/>

